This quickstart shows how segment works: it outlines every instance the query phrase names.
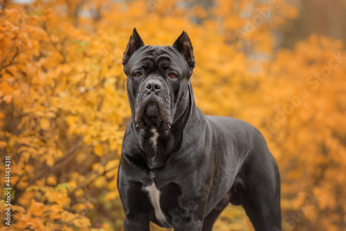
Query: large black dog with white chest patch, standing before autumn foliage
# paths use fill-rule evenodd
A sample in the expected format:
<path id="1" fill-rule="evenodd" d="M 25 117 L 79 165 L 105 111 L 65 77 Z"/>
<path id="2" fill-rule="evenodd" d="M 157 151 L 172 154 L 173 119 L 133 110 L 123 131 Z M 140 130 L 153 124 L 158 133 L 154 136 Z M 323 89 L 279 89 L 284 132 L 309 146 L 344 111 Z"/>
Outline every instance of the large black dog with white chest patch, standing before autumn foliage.
<path id="1" fill-rule="evenodd" d="M 228 203 L 243 205 L 255 230 L 281 230 L 275 160 L 250 124 L 199 111 L 188 35 L 145 46 L 135 28 L 122 64 L 132 113 L 118 170 L 124 230 L 149 230 L 149 221 L 212 230 Z"/>

